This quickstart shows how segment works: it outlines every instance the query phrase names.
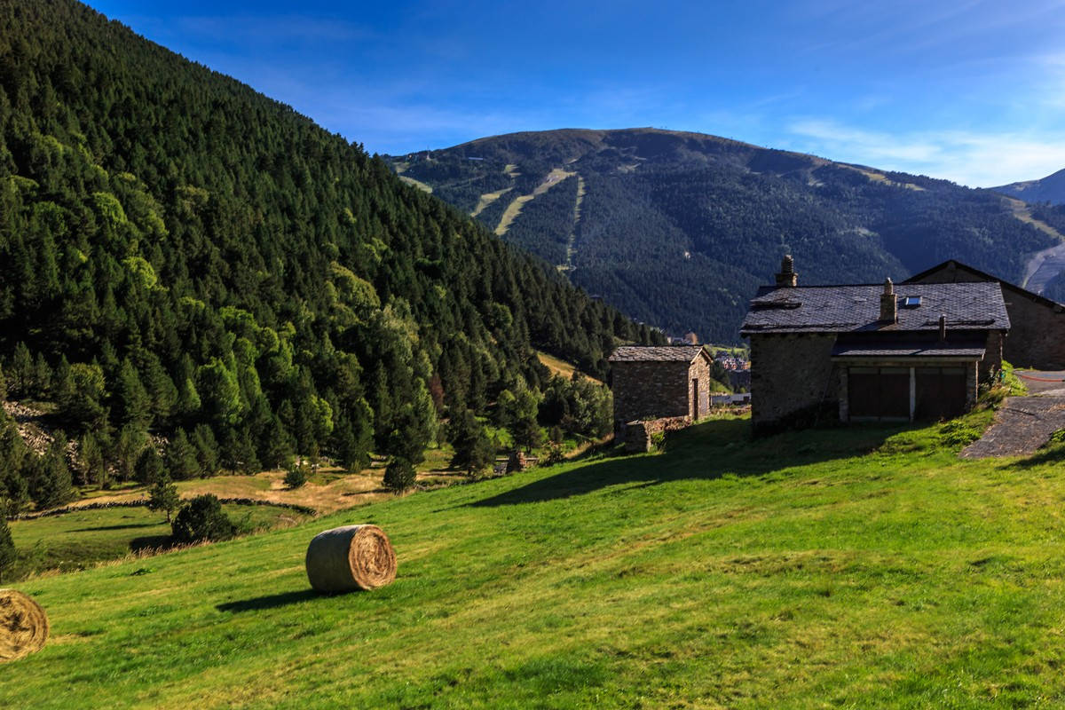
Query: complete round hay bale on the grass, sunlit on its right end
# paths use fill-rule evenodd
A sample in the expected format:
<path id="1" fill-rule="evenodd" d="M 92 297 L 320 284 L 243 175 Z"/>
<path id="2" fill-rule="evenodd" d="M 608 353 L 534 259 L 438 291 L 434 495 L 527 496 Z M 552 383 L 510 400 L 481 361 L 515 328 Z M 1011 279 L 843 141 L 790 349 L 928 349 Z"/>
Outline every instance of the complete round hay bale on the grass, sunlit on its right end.
<path id="1" fill-rule="evenodd" d="M 307 546 L 307 578 L 328 594 L 377 589 L 396 578 L 396 554 L 376 525 L 333 528 Z"/>

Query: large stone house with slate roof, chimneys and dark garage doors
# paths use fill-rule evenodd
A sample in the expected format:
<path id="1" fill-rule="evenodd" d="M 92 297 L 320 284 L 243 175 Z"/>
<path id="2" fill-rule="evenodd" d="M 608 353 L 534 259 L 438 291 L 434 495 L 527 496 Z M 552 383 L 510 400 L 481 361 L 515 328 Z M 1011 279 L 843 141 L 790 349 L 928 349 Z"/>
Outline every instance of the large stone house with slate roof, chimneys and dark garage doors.
<path id="1" fill-rule="evenodd" d="M 752 425 L 956 416 L 1001 366 L 1009 329 L 998 283 L 799 286 L 785 257 L 740 329 L 751 341 Z"/>

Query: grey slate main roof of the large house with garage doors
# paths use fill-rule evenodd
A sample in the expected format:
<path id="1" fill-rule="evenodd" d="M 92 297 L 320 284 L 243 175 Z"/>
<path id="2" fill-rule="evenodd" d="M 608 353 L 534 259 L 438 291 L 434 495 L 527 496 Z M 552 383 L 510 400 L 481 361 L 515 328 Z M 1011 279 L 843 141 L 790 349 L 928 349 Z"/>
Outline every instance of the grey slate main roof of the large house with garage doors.
<path id="1" fill-rule="evenodd" d="M 740 333 L 846 333 L 938 330 L 1009 330 L 1002 290 L 997 282 L 903 283 L 895 286 L 899 321 L 880 323 L 883 284 L 843 286 L 763 286 L 751 300 Z M 920 296 L 920 306 L 903 300 Z"/>

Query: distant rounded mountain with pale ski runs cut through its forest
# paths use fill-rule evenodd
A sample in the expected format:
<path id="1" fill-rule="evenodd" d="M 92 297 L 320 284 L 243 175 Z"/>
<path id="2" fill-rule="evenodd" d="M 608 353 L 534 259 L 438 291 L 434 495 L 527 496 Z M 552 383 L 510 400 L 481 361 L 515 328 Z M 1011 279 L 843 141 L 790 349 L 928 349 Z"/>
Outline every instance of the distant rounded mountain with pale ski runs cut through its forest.
<path id="1" fill-rule="evenodd" d="M 1055 243 L 989 191 L 699 133 L 514 133 L 388 160 L 628 315 L 717 342 L 786 252 L 804 283 L 948 258 L 1019 280 Z"/>

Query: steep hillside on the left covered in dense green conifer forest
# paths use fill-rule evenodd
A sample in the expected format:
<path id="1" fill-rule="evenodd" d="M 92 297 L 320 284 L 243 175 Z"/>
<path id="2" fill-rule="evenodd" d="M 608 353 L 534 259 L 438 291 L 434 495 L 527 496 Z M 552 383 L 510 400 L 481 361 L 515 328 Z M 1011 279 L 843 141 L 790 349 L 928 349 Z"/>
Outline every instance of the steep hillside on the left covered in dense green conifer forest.
<path id="1" fill-rule="evenodd" d="M 71 473 L 0 412 L 0 498 L 148 476 L 149 432 L 182 475 L 419 460 L 447 415 L 546 386 L 534 348 L 602 376 L 660 339 L 84 5 L 0 0 L 0 390 L 80 441 Z"/>

